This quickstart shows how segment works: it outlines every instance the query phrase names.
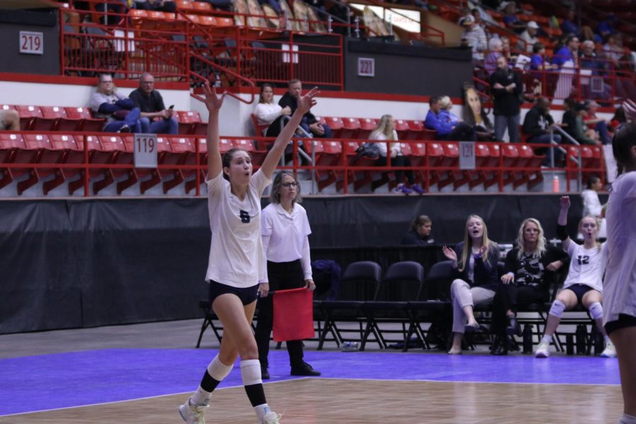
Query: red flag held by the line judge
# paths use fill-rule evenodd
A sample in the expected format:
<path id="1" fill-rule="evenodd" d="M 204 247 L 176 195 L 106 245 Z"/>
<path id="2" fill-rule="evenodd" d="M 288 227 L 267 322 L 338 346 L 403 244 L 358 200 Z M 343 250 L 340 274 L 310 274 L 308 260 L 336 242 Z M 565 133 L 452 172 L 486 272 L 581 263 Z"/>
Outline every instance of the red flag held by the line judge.
<path id="1" fill-rule="evenodd" d="M 304 287 L 273 293 L 274 341 L 314 337 L 313 292 Z"/>

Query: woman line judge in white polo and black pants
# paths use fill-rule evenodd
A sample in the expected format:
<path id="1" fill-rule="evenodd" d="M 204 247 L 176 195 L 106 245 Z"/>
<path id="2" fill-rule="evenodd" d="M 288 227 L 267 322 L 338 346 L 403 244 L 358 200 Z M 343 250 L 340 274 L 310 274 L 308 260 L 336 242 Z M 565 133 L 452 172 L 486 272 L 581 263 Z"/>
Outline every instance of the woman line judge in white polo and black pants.
<path id="1" fill-rule="evenodd" d="M 256 329 L 261 376 L 269 379 L 269 338 L 273 322 L 273 302 L 269 290 L 306 287 L 314 290 L 308 236 L 312 230 L 300 201 L 300 184 L 294 175 L 281 171 L 271 187 L 270 204 L 261 213 L 264 276 L 259 281 L 259 319 Z M 291 375 L 320 375 L 302 359 L 302 341 L 287 341 Z"/>

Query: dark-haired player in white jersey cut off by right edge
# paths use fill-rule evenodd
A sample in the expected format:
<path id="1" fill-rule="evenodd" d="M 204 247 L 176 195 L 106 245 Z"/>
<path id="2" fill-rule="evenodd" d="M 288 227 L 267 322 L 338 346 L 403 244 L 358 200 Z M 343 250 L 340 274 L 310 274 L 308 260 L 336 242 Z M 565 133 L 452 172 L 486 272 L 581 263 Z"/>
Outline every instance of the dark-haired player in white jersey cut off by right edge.
<path id="1" fill-rule="evenodd" d="M 620 128 L 612 150 L 623 173 L 612 183 L 608 201 L 608 262 L 605 288 L 605 329 L 616 345 L 623 416 L 619 424 L 636 424 L 636 103 L 623 103 L 631 122 Z"/>

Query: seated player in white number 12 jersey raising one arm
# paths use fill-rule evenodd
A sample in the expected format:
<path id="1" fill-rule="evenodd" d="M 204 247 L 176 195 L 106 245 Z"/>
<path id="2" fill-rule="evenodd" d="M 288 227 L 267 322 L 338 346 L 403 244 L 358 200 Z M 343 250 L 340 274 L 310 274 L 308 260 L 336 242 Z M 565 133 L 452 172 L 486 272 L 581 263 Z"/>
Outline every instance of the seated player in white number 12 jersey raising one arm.
<path id="1" fill-rule="evenodd" d="M 576 305 L 583 305 L 594 318 L 596 326 L 605 338 L 605 349 L 601 353 L 603 358 L 616 356 L 614 345 L 603 329 L 603 273 L 607 263 L 607 246 L 596 241 L 599 235 L 599 220 L 594 216 L 584 216 L 579 222 L 579 232 L 583 235 L 583 244 L 579 245 L 567 235 L 567 211 L 570 209 L 570 197 L 560 199 L 561 211 L 557 226 L 557 235 L 563 241 L 563 249 L 570 255 L 570 270 L 561 290 L 548 313 L 546 331 L 543 333 L 534 355 L 536 358 L 548 358 L 550 355 L 550 341 L 559 326 L 561 315 Z"/>

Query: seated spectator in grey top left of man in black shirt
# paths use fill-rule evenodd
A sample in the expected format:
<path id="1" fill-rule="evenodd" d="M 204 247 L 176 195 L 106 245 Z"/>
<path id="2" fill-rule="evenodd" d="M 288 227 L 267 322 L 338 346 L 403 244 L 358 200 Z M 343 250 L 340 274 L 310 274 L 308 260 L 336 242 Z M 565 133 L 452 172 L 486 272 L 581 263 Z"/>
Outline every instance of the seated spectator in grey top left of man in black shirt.
<path id="1" fill-rule="evenodd" d="M 110 74 L 101 73 L 98 78 L 99 86 L 90 96 L 88 107 L 93 110 L 96 118 L 106 118 L 102 131 L 141 133 L 139 107 L 135 107 L 133 101 L 126 96 L 117 93 Z"/>

